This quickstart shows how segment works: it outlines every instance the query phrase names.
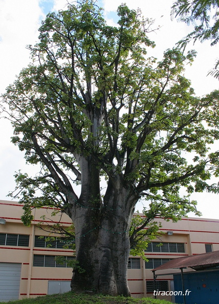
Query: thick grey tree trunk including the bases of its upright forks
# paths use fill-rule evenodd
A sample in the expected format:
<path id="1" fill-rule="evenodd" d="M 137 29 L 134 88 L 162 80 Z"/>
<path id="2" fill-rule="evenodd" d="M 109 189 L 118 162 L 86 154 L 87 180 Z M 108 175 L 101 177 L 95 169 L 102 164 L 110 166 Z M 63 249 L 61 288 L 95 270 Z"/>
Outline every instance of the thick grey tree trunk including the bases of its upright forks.
<path id="1" fill-rule="evenodd" d="M 127 285 L 129 228 L 136 193 L 131 194 L 116 176 L 108 181 L 102 201 L 95 159 L 80 156 L 78 161 L 81 195 L 68 213 L 75 226 L 76 260 L 83 272 L 75 267 L 71 288 L 130 296 Z"/>

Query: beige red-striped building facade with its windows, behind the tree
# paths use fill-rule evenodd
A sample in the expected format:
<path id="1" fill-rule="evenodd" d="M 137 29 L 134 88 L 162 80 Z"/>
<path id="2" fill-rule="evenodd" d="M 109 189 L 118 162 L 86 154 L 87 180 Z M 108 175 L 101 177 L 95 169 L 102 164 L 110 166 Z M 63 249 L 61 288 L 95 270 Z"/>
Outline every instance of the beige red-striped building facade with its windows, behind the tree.
<path id="1" fill-rule="evenodd" d="M 20 220 L 22 207 L 17 202 L 0 200 L 0 301 L 70 290 L 72 269 L 68 260 L 73 258 L 73 250 L 63 249 L 58 238 L 48 248 L 46 237 L 50 233 L 38 227 L 41 223 L 46 228 L 54 221 L 68 227 L 71 225 L 69 217 L 59 213 L 51 216 L 53 208 L 40 208 L 33 211 L 34 220 L 30 227 L 26 227 Z M 151 270 L 170 259 L 219 250 L 219 220 L 157 221 L 162 223 L 163 235 L 146 249 L 148 262 L 136 256 L 130 256 L 128 260 L 128 286 L 134 297 L 154 297 Z M 56 256 L 64 256 L 64 263 L 58 263 Z M 176 270 L 171 272 L 176 273 Z M 156 290 L 170 291 L 173 288 L 171 274 L 157 278 Z M 174 300 L 171 296 L 159 297 Z"/>

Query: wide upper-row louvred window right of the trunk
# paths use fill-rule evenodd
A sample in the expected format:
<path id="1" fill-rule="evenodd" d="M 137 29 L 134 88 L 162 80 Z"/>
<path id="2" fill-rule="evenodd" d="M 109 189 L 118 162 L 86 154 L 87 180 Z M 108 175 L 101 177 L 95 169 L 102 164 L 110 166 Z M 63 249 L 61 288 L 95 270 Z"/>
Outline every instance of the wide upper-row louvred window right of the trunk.
<path id="1" fill-rule="evenodd" d="M 162 243 L 152 242 L 148 244 L 146 252 L 185 252 L 184 243 Z"/>

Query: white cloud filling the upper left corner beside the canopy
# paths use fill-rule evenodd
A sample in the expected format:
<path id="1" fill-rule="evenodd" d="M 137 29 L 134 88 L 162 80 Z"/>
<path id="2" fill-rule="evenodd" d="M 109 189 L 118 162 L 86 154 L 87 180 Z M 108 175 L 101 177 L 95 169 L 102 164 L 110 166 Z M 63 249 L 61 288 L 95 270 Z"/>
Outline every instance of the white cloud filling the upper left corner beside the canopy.
<path id="1" fill-rule="evenodd" d="M 38 0 L 0 0 L 0 92 L 27 66 L 26 45 L 35 44 L 42 12 Z"/>

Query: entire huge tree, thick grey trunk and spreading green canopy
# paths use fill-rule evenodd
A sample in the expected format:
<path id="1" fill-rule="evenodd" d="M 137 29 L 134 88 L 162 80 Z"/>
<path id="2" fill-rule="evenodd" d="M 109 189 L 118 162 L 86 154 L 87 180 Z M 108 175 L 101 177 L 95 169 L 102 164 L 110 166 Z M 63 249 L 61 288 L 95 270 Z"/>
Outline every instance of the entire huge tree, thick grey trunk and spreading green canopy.
<path id="1" fill-rule="evenodd" d="M 29 46 L 33 61 L 3 104 L 12 142 L 27 163 L 40 165 L 35 177 L 16 173 L 24 223 L 32 207 L 60 208 L 74 222 L 84 269 L 74 270 L 72 289 L 130 295 L 128 231 L 138 200 L 146 217 L 130 233 L 134 250 L 140 226 L 196 212 L 189 194 L 218 175 L 219 153 L 209 145 L 219 138 L 219 94 L 199 98 L 183 76 L 195 52 L 147 58 L 151 21 L 126 5 L 118 16 L 108 26 L 93 1 L 48 14 Z"/>

